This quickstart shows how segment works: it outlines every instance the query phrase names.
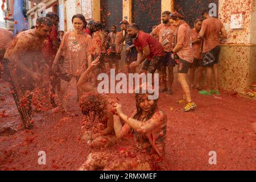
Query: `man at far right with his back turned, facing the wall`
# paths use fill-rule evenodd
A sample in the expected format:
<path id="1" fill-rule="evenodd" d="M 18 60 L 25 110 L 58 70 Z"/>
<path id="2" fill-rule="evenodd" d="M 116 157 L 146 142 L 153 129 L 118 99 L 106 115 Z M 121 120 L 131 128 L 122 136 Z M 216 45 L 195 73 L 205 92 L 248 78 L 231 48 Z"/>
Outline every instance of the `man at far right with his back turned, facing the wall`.
<path id="1" fill-rule="evenodd" d="M 212 94 L 220 96 L 220 93 L 218 92 L 218 59 L 220 55 L 219 38 L 226 39 L 227 35 L 223 23 L 219 19 L 210 15 L 209 11 L 210 9 L 205 9 L 203 11 L 205 20 L 202 23 L 202 28 L 199 33 L 199 38 L 204 38 L 203 66 L 207 68 L 207 88 L 199 93 L 208 96 Z M 213 90 L 211 90 L 212 72 L 214 75 Z"/>

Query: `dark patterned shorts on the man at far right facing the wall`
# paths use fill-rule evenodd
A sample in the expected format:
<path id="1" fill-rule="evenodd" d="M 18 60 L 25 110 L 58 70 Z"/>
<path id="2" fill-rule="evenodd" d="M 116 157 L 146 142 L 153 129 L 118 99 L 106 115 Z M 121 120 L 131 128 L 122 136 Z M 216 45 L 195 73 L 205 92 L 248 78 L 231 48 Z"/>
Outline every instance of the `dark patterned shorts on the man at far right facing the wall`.
<path id="1" fill-rule="evenodd" d="M 203 53 L 203 67 L 212 68 L 214 64 L 218 64 L 218 57 L 220 56 L 220 46 L 217 46 L 209 52 Z"/>

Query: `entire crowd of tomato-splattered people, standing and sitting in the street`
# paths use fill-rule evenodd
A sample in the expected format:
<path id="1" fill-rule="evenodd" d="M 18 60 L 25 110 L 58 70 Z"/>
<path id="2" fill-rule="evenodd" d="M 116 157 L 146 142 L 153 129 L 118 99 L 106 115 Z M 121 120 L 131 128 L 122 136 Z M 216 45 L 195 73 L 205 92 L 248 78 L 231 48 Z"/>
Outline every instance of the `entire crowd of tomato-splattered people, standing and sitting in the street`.
<path id="1" fill-rule="evenodd" d="M 49 93 L 53 108 L 67 112 L 67 90 L 73 81 L 85 117 L 81 126 L 82 140 L 97 148 L 109 147 L 128 134 L 134 137 L 134 145 L 117 154 L 92 152 L 79 169 L 164 169 L 167 117 L 158 108 L 158 100 L 148 100 L 152 93 L 148 89 L 146 93 L 135 92 L 136 110 L 129 117 L 114 94 L 97 92 L 97 76 L 108 73 L 107 68 L 118 73 L 121 52 L 125 50 L 125 71 L 140 74 L 157 71 L 163 82 L 160 92 L 173 94 L 174 68 L 177 67 L 183 89 L 178 102 L 185 103 L 182 111 L 196 108 L 191 89 L 198 89 L 199 94 L 219 96 L 219 39 L 226 38 L 226 31 L 220 20 L 209 15 L 209 9 L 202 15 L 204 20 L 196 19 L 191 29 L 182 15 L 164 11 L 163 23 L 152 28 L 150 34 L 127 20 L 119 23 L 121 32 L 115 25 L 109 32 L 101 22 L 86 22 L 82 14 L 73 15 L 74 30 L 58 32 L 59 16 L 52 12 L 38 18 L 35 27 L 20 32 L 14 39 L 1 29 L 1 39 L 6 39 L 0 47 L 2 70 L 10 83 L 24 127 L 31 129 L 33 126 L 32 93 L 36 88 Z M 207 87 L 202 90 L 204 70 Z M 143 84 L 135 89 L 141 89 Z M 55 102 L 56 96 L 61 100 L 60 105 Z"/>

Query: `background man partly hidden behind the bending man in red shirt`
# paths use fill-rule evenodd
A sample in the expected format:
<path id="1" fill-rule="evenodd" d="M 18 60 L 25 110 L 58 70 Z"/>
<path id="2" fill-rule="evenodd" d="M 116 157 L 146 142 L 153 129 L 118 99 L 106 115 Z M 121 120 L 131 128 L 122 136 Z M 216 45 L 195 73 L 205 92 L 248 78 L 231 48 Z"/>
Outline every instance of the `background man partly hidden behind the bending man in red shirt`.
<path id="1" fill-rule="evenodd" d="M 131 39 L 128 34 L 127 34 L 127 25 L 129 24 L 129 22 L 127 20 L 122 20 L 122 22 L 120 22 L 120 27 L 121 30 L 125 31 L 125 46 L 126 46 L 126 59 L 125 59 L 125 63 L 126 63 L 126 67 L 128 68 L 128 73 L 135 73 L 136 69 L 130 68 L 130 64 L 133 63 L 133 61 L 137 60 L 137 50 L 136 47 L 133 44 L 133 39 Z"/>

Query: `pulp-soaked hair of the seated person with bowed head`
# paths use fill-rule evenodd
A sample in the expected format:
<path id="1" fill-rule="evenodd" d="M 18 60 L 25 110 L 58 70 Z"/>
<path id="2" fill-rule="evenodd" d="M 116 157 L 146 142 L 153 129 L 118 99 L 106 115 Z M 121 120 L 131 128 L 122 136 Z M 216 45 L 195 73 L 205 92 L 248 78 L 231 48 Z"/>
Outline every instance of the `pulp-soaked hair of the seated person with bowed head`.
<path id="1" fill-rule="evenodd" d="M 98 119 L 106 117 L 106 104 L 98 93 L 88 92 L 83 94 L 79 106 L 84 115 L 92 114 L 94 118 L 97 116 Z"/>

